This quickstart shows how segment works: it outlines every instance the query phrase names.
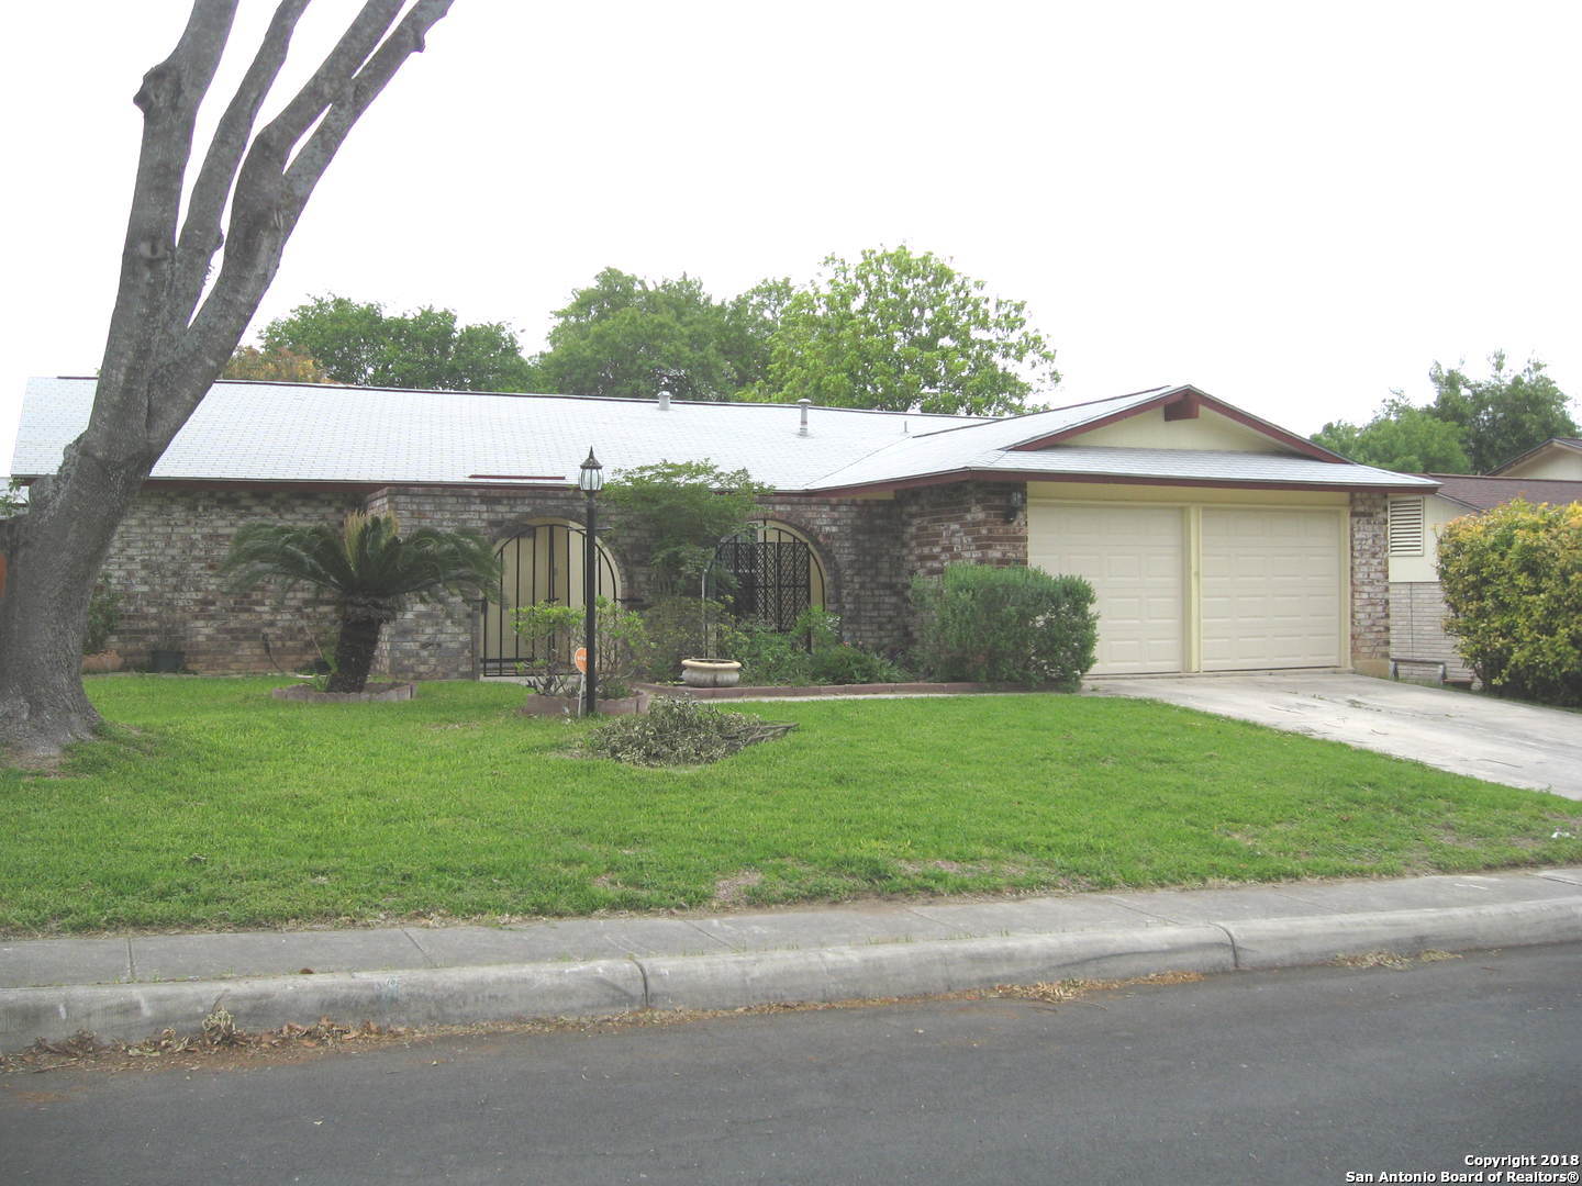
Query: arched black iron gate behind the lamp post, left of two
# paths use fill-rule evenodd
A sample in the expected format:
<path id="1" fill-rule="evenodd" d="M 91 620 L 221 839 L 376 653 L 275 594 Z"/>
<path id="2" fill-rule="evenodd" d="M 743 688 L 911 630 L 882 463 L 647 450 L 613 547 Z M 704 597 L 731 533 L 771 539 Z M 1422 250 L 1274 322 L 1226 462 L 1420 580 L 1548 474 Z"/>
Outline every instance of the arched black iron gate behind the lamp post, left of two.
<path id="1" fill-rule="evenodd" d="M 571 523 L 539 523 L 520 534 L 511 536 L 498 549 L 500 585 L 497 599 L 484 604 L 483 645 L 479 647 L 479 670 L 484 675 L 516 675 L 520 663 L 555 659 L 571 666 L 571 644 L 557 639 L 549 645 L 551 655 L 535 653 L 513 626 L 511 612 L 519 606 L 547 601 L 554 606 L 576 606 L 582 601 L 582 553 L 587 547 L 587 531 Z M 620 576 L 601 544 L 596 544 L 598 574 L 596 596 L 617 601 Z M 565 652 L 563 655 L 560 652 Z"/>

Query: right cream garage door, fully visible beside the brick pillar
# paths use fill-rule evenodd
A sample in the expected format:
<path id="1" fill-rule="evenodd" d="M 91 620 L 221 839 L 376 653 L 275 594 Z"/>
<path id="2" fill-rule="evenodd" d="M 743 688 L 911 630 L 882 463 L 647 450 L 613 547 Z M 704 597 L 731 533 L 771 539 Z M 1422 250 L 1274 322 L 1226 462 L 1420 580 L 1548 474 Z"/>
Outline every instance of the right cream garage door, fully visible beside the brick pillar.
<path id="1" fill-rule="evenodd" d="M 1202 511 L 1202 669 L 1340 664 L 1340 516 Z"/>

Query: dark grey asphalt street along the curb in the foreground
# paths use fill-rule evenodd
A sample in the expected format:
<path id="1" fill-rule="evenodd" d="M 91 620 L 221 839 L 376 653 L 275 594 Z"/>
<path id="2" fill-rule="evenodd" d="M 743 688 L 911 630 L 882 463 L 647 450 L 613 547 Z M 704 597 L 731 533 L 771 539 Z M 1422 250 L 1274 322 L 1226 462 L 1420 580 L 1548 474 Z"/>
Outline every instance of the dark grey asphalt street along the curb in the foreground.
<path id="1" fill-rule="evenodd" d="M 1231 973 L 1065 1004 L 490 1034 L 239 1071 L 11 1074 L 0 1077 L 0 1180 L 1343 1183 L 1348 1172 L 1476 1172 L 1468 1158 L 1582 1154 L 1579 973 L 1582 946 L 1563 944 L 1405 971 Z M 1550 1181 L 1577 1181 L 1582 1165 L 1549 1169 L 1561 1175 Z"/>

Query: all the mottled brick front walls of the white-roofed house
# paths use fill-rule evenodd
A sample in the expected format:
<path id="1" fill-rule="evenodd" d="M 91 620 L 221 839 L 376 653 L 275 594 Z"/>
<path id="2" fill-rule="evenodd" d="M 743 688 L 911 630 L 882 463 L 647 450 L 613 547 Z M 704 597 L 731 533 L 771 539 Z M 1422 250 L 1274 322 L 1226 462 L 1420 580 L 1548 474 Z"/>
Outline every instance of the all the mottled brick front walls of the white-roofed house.
<path id="1" fill-rule="evenodd" d="M 1025 506 L 1012 508 L 1017 492 L 1025 495 L 1025 487 L 954 482 L 900 490 L 894 498 L 782 495 L 764 500 L 763 511 L 813 542 L 824 566 L 826 604 L 842 617 L 845 637 L 899 652 L 910 642 L 913 574 L 938 574 L 957 561 L 1027 563 Z M 310 606 L 305 591 L 283 604 L 269 588 L 231 595 L 220 563 L 244 522 L 335 522 L 364 506 L 394 511 L 408 528 L 471 528 L 503 541 L 533 520 L 581 523 L 584 498 L 574 490 L 384 487 L 364 501 L 345 492 L 155 485 L 133 504 L 106 561 L 106 574 L 127 593 L 111 645 L 142 664 L 161 631 L 171 629 L 188 667 L 217 674 L 272 670 L 264 634 L 286 669 L 316 658 L 304 625 L 331 634 L 327 607 Z M 625 599 L 641 606 L 649 596 L 645 558 L 606 547 L 620 569 Z M 456 598 L 413 607 L 386 626 L 375 670 L 389 678 L 471 678 L 478 625 L 478 607 Z M 1389 655 L 1386 498 L 1353 493 L 1351 659 L 1359 670 L 1383 674 Z"/>

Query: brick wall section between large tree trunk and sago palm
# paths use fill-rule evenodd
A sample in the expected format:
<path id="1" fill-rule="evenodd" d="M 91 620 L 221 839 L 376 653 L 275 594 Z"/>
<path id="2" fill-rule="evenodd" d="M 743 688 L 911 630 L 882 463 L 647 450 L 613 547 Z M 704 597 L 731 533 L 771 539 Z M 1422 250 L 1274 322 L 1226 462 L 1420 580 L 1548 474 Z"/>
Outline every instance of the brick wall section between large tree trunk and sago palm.
<path id="1" fill-rule="evenodd" d="M 269 587 L 229 593 L 220 571 L 242 523 L 337 522 L 362 506 L 354 493 L 177 489 L 150 485 L 115 528 L 103 574 L 122 591 L 122 621 L 109 645 L 128 666 L 149 663 L 166 639 L 193 670 L 291 670 L 318 658 L 310 634 L 331 639 L 334 614 L 297 590 L 283 601 Z"/>

